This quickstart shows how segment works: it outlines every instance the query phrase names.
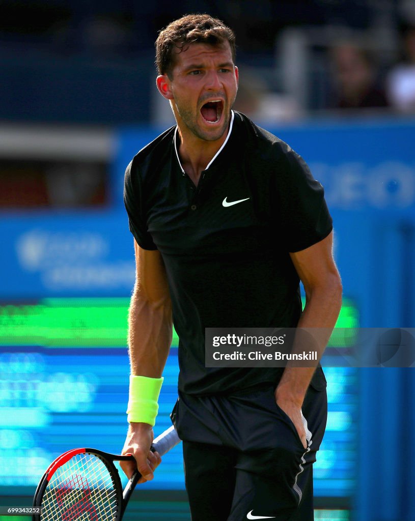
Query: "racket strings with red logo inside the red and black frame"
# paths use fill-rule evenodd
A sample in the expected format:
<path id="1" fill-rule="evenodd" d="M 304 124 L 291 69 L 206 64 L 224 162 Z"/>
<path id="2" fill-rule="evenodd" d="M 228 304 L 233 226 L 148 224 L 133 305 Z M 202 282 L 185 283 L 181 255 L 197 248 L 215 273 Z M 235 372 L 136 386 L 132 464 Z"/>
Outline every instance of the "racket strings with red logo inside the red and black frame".
<path id="1" fill-rule="evenodd" d="M 117 494 L 100 458 L 78 454 L 59 467 L 42 500 L 41 521 L 112 521 Z"/>

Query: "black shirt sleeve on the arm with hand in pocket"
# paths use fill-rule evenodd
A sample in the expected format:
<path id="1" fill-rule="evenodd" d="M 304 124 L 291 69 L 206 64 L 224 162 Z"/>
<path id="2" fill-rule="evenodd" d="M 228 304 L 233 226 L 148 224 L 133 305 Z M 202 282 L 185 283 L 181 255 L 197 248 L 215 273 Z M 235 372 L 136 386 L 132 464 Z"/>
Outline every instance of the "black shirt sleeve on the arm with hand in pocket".
<path id="1" fill-rule="evenodd" d="M 278 161 L 277 201 L 283 241 L 288 252 L 299 252 L 323 240 L 333 229 L 324 189 L 307 163 L 288 145 Z"/>

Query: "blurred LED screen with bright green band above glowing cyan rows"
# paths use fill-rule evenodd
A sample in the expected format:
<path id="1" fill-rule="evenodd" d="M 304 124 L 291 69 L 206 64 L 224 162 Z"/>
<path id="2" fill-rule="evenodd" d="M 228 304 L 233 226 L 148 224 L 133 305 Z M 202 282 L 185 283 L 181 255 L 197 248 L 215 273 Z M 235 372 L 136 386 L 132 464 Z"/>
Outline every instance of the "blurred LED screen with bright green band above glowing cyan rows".
<path id="1" fill-rule="evenodd" d="M 129 300 L 44 299 L 0 306 L 0 493 L 32 494 L 60 453 L 75 446 L 120 452 L 126 433 Z M 338 327 L 357 327 L 345 299 Z M 155 435 L 171 425 L 177 343 L 164 371 Z M 326 368 L 328 422 L 314 465 L 316 497 L 350 498 L 357 461 L 354 368 Z M 341 447 L 341 450 L 339 448 Z M 184 489 L 181 446 L 163 459 L 151 489 Z M 3 494 L 2 494 L 3 495 Z"/>

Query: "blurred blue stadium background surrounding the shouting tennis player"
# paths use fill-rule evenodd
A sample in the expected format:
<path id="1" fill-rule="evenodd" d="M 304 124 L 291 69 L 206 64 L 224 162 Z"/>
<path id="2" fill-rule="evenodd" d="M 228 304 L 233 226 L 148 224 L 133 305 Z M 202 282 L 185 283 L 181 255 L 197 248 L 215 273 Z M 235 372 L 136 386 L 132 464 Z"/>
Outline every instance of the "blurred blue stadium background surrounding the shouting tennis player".
<path id="1" fill-rule="evenodd" d="M 235 108 L 324 185 L 344 285 L 339 325 L 414 325 L 415 2 L 170 4 L 1 3 L 0 505 L 29 504 L 71 446 L 124 443 L 135 266 L 123 177 L 173 124 L 155 89 L 153 42 L 175 17 L 209 12 L 235 29 Z M 156 435 L 175 402 L 176 346 Z M 326 376 L 316 519 L 413 521 L 413 369 Z M 136 491 L 128 519 L 190 519 L 180 451 Z"/>

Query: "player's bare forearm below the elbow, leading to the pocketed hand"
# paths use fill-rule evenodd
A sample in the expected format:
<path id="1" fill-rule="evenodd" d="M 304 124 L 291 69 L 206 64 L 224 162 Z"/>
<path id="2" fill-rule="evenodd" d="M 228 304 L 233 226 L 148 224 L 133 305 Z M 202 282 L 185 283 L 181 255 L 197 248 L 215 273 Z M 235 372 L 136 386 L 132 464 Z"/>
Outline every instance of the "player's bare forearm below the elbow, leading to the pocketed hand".
<path id="1" fill-rule="evenodd" d="M 315 288 L 308 295 L 306 306 L 297 326 L 298 328 L 310 329 L 304 329 L 304 333 L 299 331 L 292 352 L 312 349 L 317 351 L 317 357 L 320 360 L 336 324 L 340 307 L 341 283 L 339 278 L 333 277 L 332 280 L 327 281 L 324 287 Z M 307 337 L 312 341 L 312 346 L 310 344 L 304 345 L 304 339 Z M 292 400 L 301 407 L 314 370 L 315 367 L 292 367 L 288 365 L 284 369 L 283 376 L 278 384 L 277 398 L 284 396 L 284 398 Z"/>

